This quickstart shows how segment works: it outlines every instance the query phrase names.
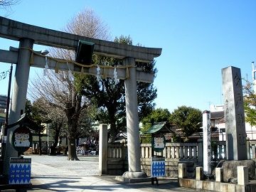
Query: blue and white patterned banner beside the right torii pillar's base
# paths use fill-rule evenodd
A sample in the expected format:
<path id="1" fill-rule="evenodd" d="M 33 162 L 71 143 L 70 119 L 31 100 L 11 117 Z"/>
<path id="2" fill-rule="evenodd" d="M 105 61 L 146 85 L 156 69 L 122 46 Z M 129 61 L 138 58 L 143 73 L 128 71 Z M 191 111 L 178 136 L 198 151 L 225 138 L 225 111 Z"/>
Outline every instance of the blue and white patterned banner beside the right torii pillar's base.
<path id="1" fill-rule="evenodd" d="M 151 162 L 151 177 L 165 176 L 165 158 L 153 156 Z"/>

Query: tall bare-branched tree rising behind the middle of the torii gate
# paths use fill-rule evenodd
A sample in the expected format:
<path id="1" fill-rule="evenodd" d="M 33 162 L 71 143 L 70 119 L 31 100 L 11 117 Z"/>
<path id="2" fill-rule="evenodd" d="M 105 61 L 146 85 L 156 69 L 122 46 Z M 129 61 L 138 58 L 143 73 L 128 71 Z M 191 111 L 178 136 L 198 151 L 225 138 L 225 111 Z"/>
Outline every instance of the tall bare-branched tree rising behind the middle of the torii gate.
<path id="1" fill-rule="evenodd" d="M 65 26 L 64 31 L 91 38 L 107 39 L 109 37 L 105 23 L 90 9 L 78 13 Z M 75 52 L 72 50 L 53 48 L 50 53 L 55 58 L 75 59 Z M 42 80 L 40 76 L 37 81 L 31 83 L 33 87 L 31 92 L 36 92 L 38 97 L 43 97 L 54 107 L 63 110 L 68 124 L 68 160 L 79 160 L 76 155 L 75 139 L 80 132 L 80 118 L 82 114 L 89 113 L 90 102 L 81 94 L 80 79 L 83 75 L 75 74 L 75 78 L 72 78 L 68 74 L 48 71 L 47 78 Z"/>

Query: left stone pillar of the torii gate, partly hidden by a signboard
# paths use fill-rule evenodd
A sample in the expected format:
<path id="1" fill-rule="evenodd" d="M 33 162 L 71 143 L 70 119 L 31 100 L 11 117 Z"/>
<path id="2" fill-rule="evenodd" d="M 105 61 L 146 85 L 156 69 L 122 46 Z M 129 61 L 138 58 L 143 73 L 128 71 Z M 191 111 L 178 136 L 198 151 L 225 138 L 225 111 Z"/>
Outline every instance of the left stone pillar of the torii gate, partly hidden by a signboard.
<path id="1" fill-rule="evenodd" d="M 33 40 L 29 38 L 21 38 L 19 48 L 33 48 Z M 28 76 L 30 68 L 31 51 L 26 49 L 18 49 L 18 65 L 15 70 L 15 80 L 13 95 L 11 98 L 11 110 L 9 124 L 13 124 L 21 117 L 21 112 L 25 112 L 26 94 L 28 88 Z M 7 130 L 7 141 L 4 158 L 4 174 L 9 174 L 10 157 L 18 156 L 18 152 L 11 144 L 11 135 L 16 127 Z"/>

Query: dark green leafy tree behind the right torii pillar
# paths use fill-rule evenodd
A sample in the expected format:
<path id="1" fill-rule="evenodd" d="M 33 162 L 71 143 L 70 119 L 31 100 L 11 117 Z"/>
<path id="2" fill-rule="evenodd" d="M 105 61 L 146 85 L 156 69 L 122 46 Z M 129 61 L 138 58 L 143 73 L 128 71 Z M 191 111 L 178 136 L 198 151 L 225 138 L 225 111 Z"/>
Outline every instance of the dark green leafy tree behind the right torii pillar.
<path id="1" fill-rule="evenodd" d="M 115 38 L 116 43 L 132 45 L 132 38 L 121 36 Z M 122 60 L 116 58 L 106 58 L 95 56 L 95 65 L 110 65 L 112 67 L 122 65 Z M 152 63 L 136 63 L 147 73 L 156 73 Z M 98 108 L 97 120 L 102 123 L 110 124 L 110 142 L 114 142 L 119 130 L 124 129 L 125 118 L 125 95 L 124 80 L 114 82 L 113 78 L 97 78 L 87 76 L 82 81 L 82 93 L 90 99 Z M 156 88 L 153 84 L 137 82 L 138 110 L 139 119 L 145 117 L 154 107 L 153 100 L 156 98 Z"/>

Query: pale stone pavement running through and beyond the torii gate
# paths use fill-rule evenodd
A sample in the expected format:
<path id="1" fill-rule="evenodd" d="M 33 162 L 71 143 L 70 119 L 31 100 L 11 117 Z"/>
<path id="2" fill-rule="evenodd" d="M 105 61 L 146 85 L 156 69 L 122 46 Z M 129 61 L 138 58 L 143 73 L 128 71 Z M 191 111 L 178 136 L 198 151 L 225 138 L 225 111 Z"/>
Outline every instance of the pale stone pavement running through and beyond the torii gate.
<path id="1" fill-rule="evenodd" d="M 159 186 L 144 183 L 122 183 L 114 176 L 99 176 L 98 157 L 80 156 L 80 161 L 66 161 L 66 156 L 24 156 L 32 159 L 28 191 L 195 191 L 178 187 L 176 179 L 160 179 Z"/>

